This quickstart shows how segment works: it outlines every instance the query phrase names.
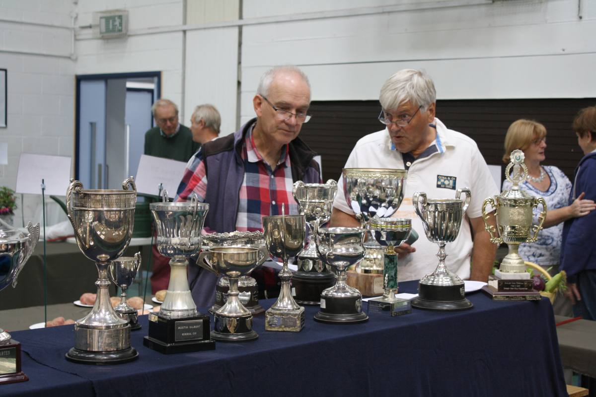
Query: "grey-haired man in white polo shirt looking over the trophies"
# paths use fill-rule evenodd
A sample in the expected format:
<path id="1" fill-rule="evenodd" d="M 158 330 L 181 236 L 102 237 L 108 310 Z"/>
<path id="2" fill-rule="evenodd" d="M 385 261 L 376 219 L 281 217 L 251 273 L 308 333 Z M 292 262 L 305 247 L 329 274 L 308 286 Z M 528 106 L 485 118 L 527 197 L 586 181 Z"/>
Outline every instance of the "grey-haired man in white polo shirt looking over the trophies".
<path id="1" fill-rule="evenodd" d="M 381 87 L 379 100 L 382 111 L 378 120 L 386 129 L 362 137 L 346 168 L 408 170 L 404 199 L 393 217 L 411 218 L 421 237 L 413 245 L 403 243 L 396 248 L 399 280 L 421 279 L 437 265 L 437 246 L 424 237 L 412 206 L 414 192 L 426 192 L 429 199 L 454 199 L 455 190 L 468 187 L 471 202 L 457 239 L 448 245 L 446 264 L 462 279 L 486 282 L 496 246 L 489 241 L 482 221 L 482 203 L 499 190 L 476 143 L 434 117 L 434 83 L 423 71 L 405 69 L 393 74 Z M 343 192 L 341 177 L 337 190 Z M 336 195 L 333 207 L 333 226 L 359 226 L 342 193 Z"/>

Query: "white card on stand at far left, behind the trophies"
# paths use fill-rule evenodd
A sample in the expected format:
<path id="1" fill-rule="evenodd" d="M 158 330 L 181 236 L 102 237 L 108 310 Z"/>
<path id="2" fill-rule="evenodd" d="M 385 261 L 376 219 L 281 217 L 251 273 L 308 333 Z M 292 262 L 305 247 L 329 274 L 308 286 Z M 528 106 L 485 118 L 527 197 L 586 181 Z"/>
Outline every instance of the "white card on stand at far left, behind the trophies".
<path id="1" fill-rule="evenodd" d="M 70 157 L 21 154 L 15 192 L 41 195 L 41 181 L 44 180 L 46 195 L 66 195 L 70 184 L 70 160 Z"/>

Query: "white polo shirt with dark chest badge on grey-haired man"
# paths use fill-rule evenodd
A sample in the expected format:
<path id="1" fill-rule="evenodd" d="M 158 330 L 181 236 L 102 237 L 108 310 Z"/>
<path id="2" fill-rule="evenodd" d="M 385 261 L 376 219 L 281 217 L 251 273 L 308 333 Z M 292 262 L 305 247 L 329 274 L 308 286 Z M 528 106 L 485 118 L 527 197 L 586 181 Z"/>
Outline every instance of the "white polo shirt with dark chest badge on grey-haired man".
<path id="1" fill-rule="evenodd" d="M 486 161 L 480 154 L 476 142 L 470 137 L 445 127 L 438 118 L 434 119 L 437 139 L 432 146 L 437 151 L 428 157 L 417 158 L 408 170 L 408 179 L 404 183 L 404 195 L 401 206 L 395 212 L 395 218 L 411 218 L 412 227 L 420 237 L 412 246 L 416 252 L 398 260 L 399 281 L 418 280 L 432 273 L 439 263 L 436 257 L 439 246 L 427 239 L 422 221 L 416 215 L 412 205 L 414 192 L 425 192 L 429 199 L 452 199 L 455 191 L 468 187 L 471 191 L 470 205 L 461 223 L 460 233 L 452 243 L 447 243 L 445 260 L 449 270 L 462 279 L 470 277 L 470 257 L 472 240 L 470 224 L 467 218 L 482 216 L 482 203 L 485 198 L 499 194 L 499 189 L 492 179 Z M 384 129 L 362 137 L 348 157 L 344 168 L 399 168 L 404 169 L 401 152 L 395 150 L 389 132 Z M 337 183 L 337 195 L 333 206 L 353 214 L 343 194 L 343 177 Z M 488 208 L 489 210 L 490 208 Z"/>

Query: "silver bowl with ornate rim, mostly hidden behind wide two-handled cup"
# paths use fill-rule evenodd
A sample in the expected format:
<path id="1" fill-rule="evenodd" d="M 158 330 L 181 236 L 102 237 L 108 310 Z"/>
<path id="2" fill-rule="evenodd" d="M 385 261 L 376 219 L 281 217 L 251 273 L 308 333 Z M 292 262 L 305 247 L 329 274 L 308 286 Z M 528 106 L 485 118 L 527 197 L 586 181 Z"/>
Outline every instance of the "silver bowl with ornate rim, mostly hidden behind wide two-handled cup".
<path id="1" fill-rule="evenodd" d="M 263 232 L 231 232 L 231 233 L 210 233 L 203 235 L 203 251 L 208 251 L 214 246 L 247 246 L 261 248 L 265 246 L 265 236 Z M 259 286 L 253 277 L 241 276 L 238 280 L 238 298 L 240 302 L 253 315 L 259 315 L 265 312 L 265 309 L 259 305 Z M 211 314 L 221 308 L 228 300 L 229 280 L 228 277 L 220 277 L 215 286 L 215 303 L 209 309 Z"/>

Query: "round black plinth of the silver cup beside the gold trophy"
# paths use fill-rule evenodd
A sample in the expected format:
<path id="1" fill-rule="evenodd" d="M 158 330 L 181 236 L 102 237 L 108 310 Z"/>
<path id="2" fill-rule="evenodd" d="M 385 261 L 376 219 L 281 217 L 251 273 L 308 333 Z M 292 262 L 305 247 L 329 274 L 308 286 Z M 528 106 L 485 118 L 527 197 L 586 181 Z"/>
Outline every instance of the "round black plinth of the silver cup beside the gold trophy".
<path id="1" fill-rule="evenodd" d="M 465 299 L 464 284 L 428 285 L 418 284 L 418 296 L 412 299 L 412 307 L 424 310 L 458 311 L 473 307 Z"/>

